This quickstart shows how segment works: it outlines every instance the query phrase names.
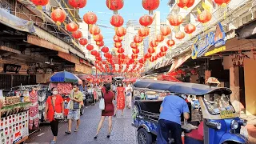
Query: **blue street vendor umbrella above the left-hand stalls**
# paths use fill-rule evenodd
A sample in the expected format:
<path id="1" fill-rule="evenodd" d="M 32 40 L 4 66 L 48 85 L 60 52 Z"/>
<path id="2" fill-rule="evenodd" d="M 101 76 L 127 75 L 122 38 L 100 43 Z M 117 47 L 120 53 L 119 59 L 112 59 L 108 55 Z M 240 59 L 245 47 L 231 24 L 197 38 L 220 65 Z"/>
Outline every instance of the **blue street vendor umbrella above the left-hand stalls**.
<path id="1" fill-rule="evenodd" d="M 78 78 L 67 71 L 61 71 L 50 77 L 50 82 L 78 82 Z"/>

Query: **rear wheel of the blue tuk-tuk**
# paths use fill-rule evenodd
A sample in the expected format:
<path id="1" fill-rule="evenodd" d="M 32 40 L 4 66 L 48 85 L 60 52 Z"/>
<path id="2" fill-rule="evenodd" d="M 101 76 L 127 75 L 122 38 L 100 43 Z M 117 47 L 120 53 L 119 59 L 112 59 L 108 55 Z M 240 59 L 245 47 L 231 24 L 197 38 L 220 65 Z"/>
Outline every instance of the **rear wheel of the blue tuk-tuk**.
<path id="1" fill-rule="evenodd" d="M 138 130 L 138 144 L 151 144 L 152 135 L 148 133 L 144 128 Z"/>

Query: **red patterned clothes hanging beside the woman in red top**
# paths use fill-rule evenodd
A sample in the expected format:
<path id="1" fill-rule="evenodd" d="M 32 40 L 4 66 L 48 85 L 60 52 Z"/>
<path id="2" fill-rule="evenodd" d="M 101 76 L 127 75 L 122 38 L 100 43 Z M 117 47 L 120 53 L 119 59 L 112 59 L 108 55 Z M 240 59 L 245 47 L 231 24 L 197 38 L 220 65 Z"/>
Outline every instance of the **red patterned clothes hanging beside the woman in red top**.
<path id="1" fill-rule="evenodd" d="M 36 88 L 32 88 L 30 92 L 30 118 L 29 118 L 29 129 L 33 130 L 33 126 L 38 128 L 39 118 L 38 118 L 38 91 Z"/>

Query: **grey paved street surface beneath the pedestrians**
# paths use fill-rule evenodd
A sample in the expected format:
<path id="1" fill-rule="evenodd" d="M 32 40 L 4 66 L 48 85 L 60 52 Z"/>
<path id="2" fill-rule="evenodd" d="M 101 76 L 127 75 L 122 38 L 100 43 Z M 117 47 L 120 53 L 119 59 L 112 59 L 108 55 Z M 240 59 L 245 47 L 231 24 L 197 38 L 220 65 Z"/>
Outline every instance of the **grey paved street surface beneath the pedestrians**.
<path id="1" fill-rule="evenodd" d="M 67 123 L 62 122 L 59 125 L 58 143 L 60 144 L 134 144 L 136 143 L 136 130 L 131 126 L 131 110 L 125 109 L 125 114 L 122 117 L 121 112 L 117 118 L 113 119 L 113 130 L 110 138 L 106 138 L 108 123 L 107 119 L 102 126 L 102 130 L 98 134 L 97 140 L 94 140 L 94 135 L 101 116 L 101 111 L 98 109 L 98 104 L 88 106 L 85 114 L 81 116 L 81 125 L 78 132 L 74 132 L 75 123 L 73 123 L 72 134 L 66 135 L 65 131 Z M 50 126 L 41 126 L 41 130 L 31 134 L 30 139 L 26 143 L 30 144 L 45 144 L 50 143 L 53 135 Z"/>

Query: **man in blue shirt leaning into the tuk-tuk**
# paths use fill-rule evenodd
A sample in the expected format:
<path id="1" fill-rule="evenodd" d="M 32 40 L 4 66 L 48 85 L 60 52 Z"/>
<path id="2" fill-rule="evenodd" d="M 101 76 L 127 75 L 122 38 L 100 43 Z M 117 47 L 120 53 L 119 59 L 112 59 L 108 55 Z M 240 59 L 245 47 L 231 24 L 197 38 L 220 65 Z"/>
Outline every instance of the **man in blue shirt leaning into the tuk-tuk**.
<path id="1" fill-rule="evenodd" d="M 169 132 L 171 132 L 175 144 L 182 144 L 181 115 L 183 114 L 185 119 L 189 119 L 189 113 L 189 107 L 183 98 L 176 95 L 166 96 L 160 107 L 158 144 L 167 144 L 169 142 Z"/>

